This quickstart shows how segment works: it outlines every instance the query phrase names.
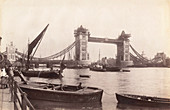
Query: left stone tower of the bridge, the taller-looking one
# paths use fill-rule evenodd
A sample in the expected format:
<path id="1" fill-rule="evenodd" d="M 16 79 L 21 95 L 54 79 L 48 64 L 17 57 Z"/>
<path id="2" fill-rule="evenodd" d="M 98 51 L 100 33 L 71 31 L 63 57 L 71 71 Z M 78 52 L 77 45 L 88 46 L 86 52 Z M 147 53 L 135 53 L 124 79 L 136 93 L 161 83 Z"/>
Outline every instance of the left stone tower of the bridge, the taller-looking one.
<path id="1" fill-rule="evenodd" d="M 78 64 L 88 65 L 89 53 L 87 52 L 88 37 L 90 33 L 88 29 L 83 28 L 81 25 L 79 28 L 74 30 L 74 37 L 76 41 L 75 45 L 75 60 Z"/>

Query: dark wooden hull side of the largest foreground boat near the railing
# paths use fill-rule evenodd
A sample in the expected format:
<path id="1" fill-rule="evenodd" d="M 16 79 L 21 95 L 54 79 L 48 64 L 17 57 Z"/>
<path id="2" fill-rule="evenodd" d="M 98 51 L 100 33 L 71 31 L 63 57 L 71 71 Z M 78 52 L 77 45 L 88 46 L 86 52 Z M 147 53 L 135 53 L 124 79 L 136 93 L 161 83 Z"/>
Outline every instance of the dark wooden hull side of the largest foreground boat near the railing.
<path id="1" fill-rule="evenodd" d="M 34 88 L 34 86 L 20 85 L 20 88 L 27 93 L 29 99 L 44 100 L 64 103 L 91 103 L 101 102 L 103 90 L 87 87 L 88 91 L 56 91 L 43 88 Z M 91 90 L 91 92 L 89 92 Z"/>

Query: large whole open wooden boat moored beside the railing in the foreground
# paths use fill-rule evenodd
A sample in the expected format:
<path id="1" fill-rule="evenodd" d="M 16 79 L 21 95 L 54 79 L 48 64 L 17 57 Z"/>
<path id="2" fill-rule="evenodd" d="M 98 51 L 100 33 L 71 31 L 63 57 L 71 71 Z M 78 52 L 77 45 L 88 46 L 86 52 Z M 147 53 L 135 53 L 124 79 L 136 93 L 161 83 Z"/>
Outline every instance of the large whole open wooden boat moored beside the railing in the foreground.
<path id="1" fill-rule="evenodd" d="M 79 87 L 75 85 L 48 84 L 30 82 L 20 84 L 31 100 L 44 100 L 69 103 L 101 102 L 103 90 L 95 87 Z"/>

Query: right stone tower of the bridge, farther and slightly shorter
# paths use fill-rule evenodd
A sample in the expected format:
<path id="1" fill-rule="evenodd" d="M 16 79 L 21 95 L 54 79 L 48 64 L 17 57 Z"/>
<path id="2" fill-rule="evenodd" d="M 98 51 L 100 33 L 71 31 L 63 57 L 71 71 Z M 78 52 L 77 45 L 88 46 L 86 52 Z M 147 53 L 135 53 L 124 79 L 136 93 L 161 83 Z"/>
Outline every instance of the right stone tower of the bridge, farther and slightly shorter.
<path id="1" fill-rule="evenodd" d="M 130 34 L 125 34 L 125 32 L 122 31 L 121 35 L 117 39 L 121 41 L 117 43 L 116 64 L 118 66 L 126 67 L 128 65 L 133 65 L 133 61 L 130 60 L 129 52 L 130 40 L 128 38 L 130 36 Z"/>

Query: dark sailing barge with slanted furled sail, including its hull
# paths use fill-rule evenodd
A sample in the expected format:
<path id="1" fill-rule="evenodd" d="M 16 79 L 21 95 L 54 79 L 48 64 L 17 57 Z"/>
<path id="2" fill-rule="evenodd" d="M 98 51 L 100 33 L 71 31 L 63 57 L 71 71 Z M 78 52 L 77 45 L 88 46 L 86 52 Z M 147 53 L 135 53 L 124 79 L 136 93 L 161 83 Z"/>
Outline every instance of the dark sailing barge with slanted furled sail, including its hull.
<path id="1" fill-rule="evenodd" d="M 27 76 L 27 77 L 42 77 L 42 78 L 61 78 L 61 77 L 63 77 L 61 73 L 63 72 L 63 70 L 66 67 L 63 63 L 65 56 L 63 57 L 62 61 L 60 62 L 60 69 L 59 70 L 49 70 L 49 71 L 30 70 L 30 60 L 33 59 L 33 56 L 34 56 L 36 50 L 38 49 L 38 46 L 40 45 L 42 38 L 43 38 L 48 26 L 49 26 L 49 24 L 43 29 L 43 31 L 30 44 L 28 44 L 28 55 L 27 55 L 27 63 L 26 63 L 27 67 L 26 67 L 25 70 L 22 70 L 22 73 L 23 73 L 24 76 Z M 34 50 L 34 53 L 31 56 L 33 49 L 35 47 L 36 47 L 36 49 Z M 14 76 L 19 76 L 18 71 L 14 71 Z"/>

